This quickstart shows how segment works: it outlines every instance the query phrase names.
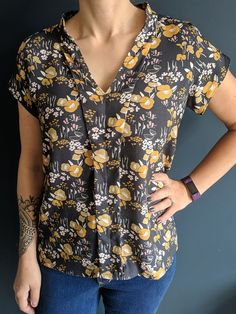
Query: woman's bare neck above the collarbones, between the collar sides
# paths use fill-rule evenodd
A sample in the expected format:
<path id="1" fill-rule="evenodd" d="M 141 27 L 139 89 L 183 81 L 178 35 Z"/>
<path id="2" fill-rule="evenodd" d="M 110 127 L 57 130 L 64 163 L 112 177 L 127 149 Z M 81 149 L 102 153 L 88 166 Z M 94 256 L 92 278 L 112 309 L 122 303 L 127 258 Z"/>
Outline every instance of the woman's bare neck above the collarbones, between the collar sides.
<path id="1" fill-rule="evenodd" d="M 79 12 L 68 24 L 74 36 L 92 36 L 97 41 L 106 41 L 120 33 L 134 32 L 144 24 L 145 12 L 130 0 L 80 0 Z"/>

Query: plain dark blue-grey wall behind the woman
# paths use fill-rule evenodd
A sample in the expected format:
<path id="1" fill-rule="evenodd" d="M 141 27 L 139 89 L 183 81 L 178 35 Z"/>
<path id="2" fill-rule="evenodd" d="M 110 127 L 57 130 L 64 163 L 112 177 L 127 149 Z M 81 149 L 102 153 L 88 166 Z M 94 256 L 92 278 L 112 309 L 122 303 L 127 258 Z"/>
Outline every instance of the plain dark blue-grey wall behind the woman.
<path id="1" fill-rule="evenodd" d="M 137 1 L 142 2 L 142 1 Z M 157 12 L 192 21 L 205 37 L 231 58 L 236 74 L 234 0 L 150 1 Z M 7 90 L 18 45 L 24 37 L 57 23 L 76 0 L 2 2 L 1 23 L 1 228 L 0 312 L 20 313 L 12 289 L 17 267 L 18 210 L 15 196 L 19 130 L 17 104 Z M 222 104 L 223 106 L 224 104 Z M 224 125 L 207 110 L 198 116 L 186 110 L 169 175 L 187 175 L 224 134 Z M 236 313 L 236 167 L 202 198 L 175 215 L 179 251 L 175 278 L 160 314 Z M 104 313 L 100 302 L 100 314 Z M 53 314 L 53 313 L 52 313 Z M 142 313 L 145 314 L 145 313 Z"/>

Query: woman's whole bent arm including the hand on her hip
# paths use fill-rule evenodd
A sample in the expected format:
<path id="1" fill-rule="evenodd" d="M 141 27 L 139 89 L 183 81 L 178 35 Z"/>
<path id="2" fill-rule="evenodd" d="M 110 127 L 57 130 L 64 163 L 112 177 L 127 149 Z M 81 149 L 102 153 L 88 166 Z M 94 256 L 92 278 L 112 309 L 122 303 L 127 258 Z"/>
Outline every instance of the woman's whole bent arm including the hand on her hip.
<path id="1" fill-rule="evenodd" d="M 230 70 L 215 91 L 208 108 L 224 123 L 227 131 L 189 174 L 200 194 L 236 165 L 236 78 Z M 150 195 L 150 202 L 163 199 L 152 206 L 154 211 L 169 206 L 158 218 L 160 222 L 165 222 L 175 212 L 192 202 L 190 192 L 181 180 L 173 180 L 166 173 L 155 173 L 154 180 L 164 184 L 161 189 Z M 170 199 L 173 201 L 172 206 Z"/>

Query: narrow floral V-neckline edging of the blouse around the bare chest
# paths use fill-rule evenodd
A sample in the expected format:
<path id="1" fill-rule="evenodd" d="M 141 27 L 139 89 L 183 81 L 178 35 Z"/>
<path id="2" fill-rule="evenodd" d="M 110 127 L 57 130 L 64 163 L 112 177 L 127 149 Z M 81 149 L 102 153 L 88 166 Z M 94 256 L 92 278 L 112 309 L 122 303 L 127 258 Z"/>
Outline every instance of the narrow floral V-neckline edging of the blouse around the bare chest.
<path id="1" fill-rule="evenodd" d="M 137 4 L 135 4 L 135 5 L 137 6 Z M 151 12 L 153 12 L 152 8 L 150 7 L 148 2 L 145 1 L 144 3 L 141 3 L 141 5 L 142 5 L 142 8 L 144 8 L 144 11 L 145 11 L 145 14 L 146 14 L 145 22 L 144 22 L 141 30 L 139 31 L 139 33 L 136 35 L 135 39 L 133 40 L 131 48 L 129 49 L 128 53 L 126 53 L 125 58 L 123 58 L 122 63 L 121 63 L 121 65 L 118 68 L 118 71 L 116 71 L 116 75 L 115 75 L 114 79 L 112 80 L 112 82 L 110 83 L 110 85 L 109 85 L 109 87 L 107 88 L 106 91 L 104 91 L 103 88 L 101 88 L 97 84 L 96 80 L 94 79 L 94 76 L 93 76 L 92 72 L 90 71 L 87 62 L 85 61 L 85 58 L 84 58 L 83 53 L 82 53 L 82 51 L 81 51 L 81 49 L 79 47 L 79 44 L 76 42 L 75 38 L 68 33 L 68 31 L 67 31 L 67 29 L 65 27 L 65 21 L 66 20 L 65 20 L 65 18 L 63 19 L 62 29 L 63 29 L 65 35 L 68 37 L 70 42 L 73 43 L 73 46 L 74 46 L 75 50 L 78 52 L 79 57 L 80 57 L 80 62 L 82 63 L 82 66 L 84 67 L 84 70 L 85 70 L 85 72 L 87 74 L 87 78 L 89 78 L 89 80 L 92 83 L 92 85 L 95 88 L 95 90 L 100 91 L 101 94 L 105 95 L 105 94 L 110 93 L 113 90 L 114 84 L 117 81 L 119 81 L 121 73 L 124 71 L 124 69 L 126 69 L 125 65 L 124 65 L 125 60 L 127 60 L 128 57 L 132 56 L 132 53 L 134 51 L 137 51 L 137 47 L 140 48 L 137 45 L 137 43 L 140 41 L 140 39 L 142 38 L 142 35 L 147 30 L 147 26 L 148 26 L 148 23 L 149 23 Z M 72 14 L 75 14 L 76 12 L 78 12 L 78 11 L 71 11 L 68 14 L 70 14 L 70 16 L 72 16 Z"/>

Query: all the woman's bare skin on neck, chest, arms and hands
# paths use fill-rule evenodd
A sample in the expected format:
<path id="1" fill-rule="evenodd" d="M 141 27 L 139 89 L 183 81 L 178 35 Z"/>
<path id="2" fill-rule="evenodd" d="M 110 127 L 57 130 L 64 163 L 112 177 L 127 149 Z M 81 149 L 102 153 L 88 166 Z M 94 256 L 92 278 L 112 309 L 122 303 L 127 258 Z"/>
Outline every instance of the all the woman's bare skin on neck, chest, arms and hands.
<path id="1" fill-rule="evenodd" d="M 109 5 L 108 5 L 109 2 Z M 66 25 L 67 32 L 79 44 L 85 61 L 98 86 L 106 91 L 111 85 L 121 60 L 127 55 L 136 35 L 144 24 L 145 13 L 128 0 L 81 0 L 80 13 Z M 95 58 L 96 52 L 96 58 Z M 113 59 L 111 60 L 110 54 Z M 96 60 L 96 62 L 95 62 Z M 99 64 L 99 67 L 97 67 Z M 191 172 L 201 194 L 218 181 L 236 163 L 236 78 L 228 71 L 223 83 L 211 99 L 209 109 L 224 123 L 227 132 L 208 155 Z M 41 273 L 37 261 L 37 211 L 43 186 L 42 145 L 39 121 L 19 103 L 21 155 L 18 168 L 17 194 L 19 199 L 22 236 L 19 263 L 13 289 L 16 302 L 24 313 L 35 313 L 39 302 Z M 152 193 L 151 201 L 171 197 L 154 205 L 154 210 L 167 209 L 160 217 L 164 222 L 191 202 L 191 196 L 180 180 L 157 173 L 155 180 L 164 187 Z M 30 203 L 30 206 L 25 206 Z M 27 222 L 30 232 L 23 225 Z M 33 304 L 35 306 L 33 306 Z"/>

